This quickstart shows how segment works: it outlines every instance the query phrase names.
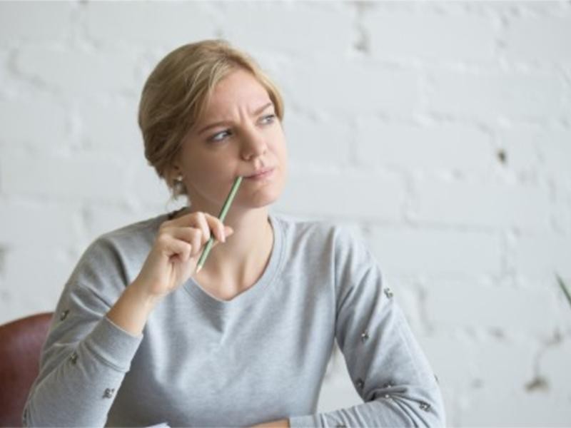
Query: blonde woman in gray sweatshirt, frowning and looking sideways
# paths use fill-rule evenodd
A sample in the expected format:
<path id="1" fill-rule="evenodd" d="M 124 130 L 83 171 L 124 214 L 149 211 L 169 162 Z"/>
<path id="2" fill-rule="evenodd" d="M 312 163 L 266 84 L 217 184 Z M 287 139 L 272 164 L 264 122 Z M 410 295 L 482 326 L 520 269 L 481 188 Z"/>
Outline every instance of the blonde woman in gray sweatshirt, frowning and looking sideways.
<path id="1" fill-rule="evenodd" d="M 338 225 L 268 211 L 287 175 L 282 119 L 276 86 L 224 41 L 158 63 L 141 96 L 145 155 L 191 204 L 87 248 L 24 424 L 444 424 L 435 376 L 365 245 Z M 335 339 L 364 403 L 315 414 Z"/>

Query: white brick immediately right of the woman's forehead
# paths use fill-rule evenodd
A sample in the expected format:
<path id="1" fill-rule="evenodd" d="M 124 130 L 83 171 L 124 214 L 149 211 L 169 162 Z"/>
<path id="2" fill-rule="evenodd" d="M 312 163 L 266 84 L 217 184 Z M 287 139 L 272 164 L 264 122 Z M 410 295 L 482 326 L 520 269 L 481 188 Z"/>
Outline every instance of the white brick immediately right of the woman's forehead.
<path id="1" fill-rule="evenodd" d="M 369 59 L 284 63 L 273 76 L 290 100 L 289 108 L 320 117 L 410 114 L 420 98 L 417 72 Z"/>

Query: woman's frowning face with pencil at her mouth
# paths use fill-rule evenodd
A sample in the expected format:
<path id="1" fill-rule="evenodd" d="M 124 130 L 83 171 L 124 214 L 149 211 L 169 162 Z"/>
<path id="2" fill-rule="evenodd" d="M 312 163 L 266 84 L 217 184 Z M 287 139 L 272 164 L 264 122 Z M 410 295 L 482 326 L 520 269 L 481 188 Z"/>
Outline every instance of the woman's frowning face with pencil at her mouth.
<path id="1" fill-rule="evenodd" d="M 176 165 L 193 210 L 218 215 L 238 175 L 243 180 L 233 210 L 278 199 L 287 175 L 285 137 L 268 91 L 251 73 L 238 69 L 217 84 Z M 266 168 L 273 172 L 265 178 L 246 178 Z"/>

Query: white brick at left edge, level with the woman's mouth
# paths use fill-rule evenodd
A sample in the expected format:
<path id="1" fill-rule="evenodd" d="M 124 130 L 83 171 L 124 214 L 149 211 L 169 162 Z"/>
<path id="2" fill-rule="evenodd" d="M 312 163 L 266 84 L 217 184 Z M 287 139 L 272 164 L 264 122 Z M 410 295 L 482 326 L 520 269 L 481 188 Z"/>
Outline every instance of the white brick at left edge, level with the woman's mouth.
<path id="1" fill-rule="evenodd" d="M 0 158 L 0 174 L 2 190 L 12 197 L 59 202 L 120 202 L 126 197 L 125 167 L 120 160 L 106 156 L 24 156 L 14 152 Z"/>

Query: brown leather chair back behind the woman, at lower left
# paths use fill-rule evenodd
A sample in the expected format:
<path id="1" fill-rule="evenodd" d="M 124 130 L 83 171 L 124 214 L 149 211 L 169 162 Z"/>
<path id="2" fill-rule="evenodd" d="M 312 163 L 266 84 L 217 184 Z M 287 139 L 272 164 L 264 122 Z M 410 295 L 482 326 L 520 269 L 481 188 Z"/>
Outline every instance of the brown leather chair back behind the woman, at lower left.
<path id="1" fill-rule="evenodd" d="M 0 426 L 21 427 L 21 415 L 38 376 L 41 347 L 53 312 L 0 325 Z"/>

